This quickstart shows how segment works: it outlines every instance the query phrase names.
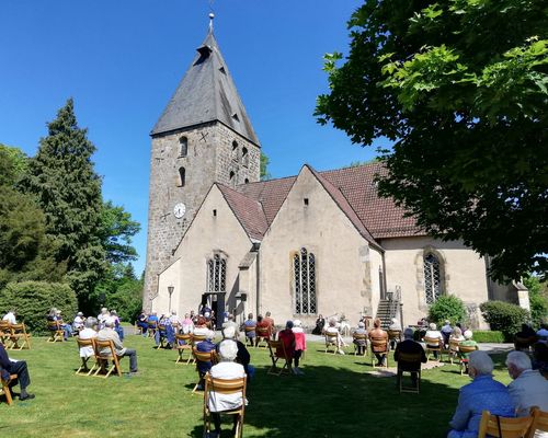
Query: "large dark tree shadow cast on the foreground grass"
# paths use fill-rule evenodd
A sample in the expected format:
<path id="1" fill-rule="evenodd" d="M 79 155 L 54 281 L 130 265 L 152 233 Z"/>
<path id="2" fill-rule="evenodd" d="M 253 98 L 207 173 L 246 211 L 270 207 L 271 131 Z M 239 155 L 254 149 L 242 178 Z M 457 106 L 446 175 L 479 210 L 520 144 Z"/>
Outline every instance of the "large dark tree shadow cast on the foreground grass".
<path id="1" fill-rule="evenodd" d="M 256 369 L 248 387 L 244 437 L 422 437 L 426 424 L 430 437 L 447 434 L 458 389 L 431 381 L 430 371 L 423 372 L 420 394 L 400 394 L 396 377 L 331 366 L 302 369 L 306 374 L 300 377 L 276 377 L 266 373 L 267 367 Z M 222 438 L 232 436 L 231 420 L 222 416 Z M 203 437 L 203 426 L 195 426 L 190 436 Z"/>

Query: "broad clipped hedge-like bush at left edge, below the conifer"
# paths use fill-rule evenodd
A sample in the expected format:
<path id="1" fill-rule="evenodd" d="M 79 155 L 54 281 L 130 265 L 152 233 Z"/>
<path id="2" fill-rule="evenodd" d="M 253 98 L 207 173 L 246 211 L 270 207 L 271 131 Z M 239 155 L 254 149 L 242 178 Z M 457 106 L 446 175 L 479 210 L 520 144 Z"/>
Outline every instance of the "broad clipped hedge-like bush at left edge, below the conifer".
<path id="1" fill-rule="evenodd" d="M 15 309 L 18 322 L 24 322 L 34 334 L 46 333 L 49 309 L 59 309 L 66 322 L 72 322 L 77 306 L 76 293 L 61 283 L 9 283 L 0 290 L 0 312 Z"/>

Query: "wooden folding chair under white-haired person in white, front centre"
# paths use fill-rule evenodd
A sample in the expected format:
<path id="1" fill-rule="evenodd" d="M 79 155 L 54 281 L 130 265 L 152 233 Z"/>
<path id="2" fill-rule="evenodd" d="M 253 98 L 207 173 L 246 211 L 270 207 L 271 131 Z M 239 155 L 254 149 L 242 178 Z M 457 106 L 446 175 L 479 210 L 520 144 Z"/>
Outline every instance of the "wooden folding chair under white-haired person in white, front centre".
<path id="1" fill-rule="evenodd" d="M 242 404 L 237 408 L 216 412 L 215 414 L 238 415 L 235 437 L 241 438 L 243 430 L 243 417 L 246 413 L 246 383 L 247 377 L 238 379 L 215 379 L 209 373 L 205 374 L 204 390 L 204 436 L 209 436 L 212 431 L 212 412 L 209 411 L 209 396 L 212 392 L 216 394 L 238 394 L 241 393 Z"/>

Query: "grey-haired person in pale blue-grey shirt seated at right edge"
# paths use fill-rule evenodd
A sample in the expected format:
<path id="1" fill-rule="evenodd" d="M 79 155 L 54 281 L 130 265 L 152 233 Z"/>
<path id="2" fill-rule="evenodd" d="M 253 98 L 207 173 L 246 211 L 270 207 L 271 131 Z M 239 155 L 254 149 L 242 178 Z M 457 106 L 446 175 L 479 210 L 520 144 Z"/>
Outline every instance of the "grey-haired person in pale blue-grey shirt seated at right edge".
<path id="1" fill-rule="evenodd" d="M 548 380 L 532 369 L 529 357 L 523 351 L 511 351 L 506 358 L 509 374 L 514 380 L 509 391 L 516 406 L 516 415 L 526 417 L 533 406 L 548 412 Z"/>

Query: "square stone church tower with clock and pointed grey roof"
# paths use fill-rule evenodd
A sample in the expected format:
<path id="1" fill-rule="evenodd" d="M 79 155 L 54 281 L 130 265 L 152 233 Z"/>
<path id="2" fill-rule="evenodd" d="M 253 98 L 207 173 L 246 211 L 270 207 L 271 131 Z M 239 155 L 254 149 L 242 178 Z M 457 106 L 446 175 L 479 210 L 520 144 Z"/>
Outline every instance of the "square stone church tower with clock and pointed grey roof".
<path id="1" fill-rule="evenodd" d="M 213 33 L 153 127 L 144 308 L 213 183 L 260 180 L 260 143 Z"/>

